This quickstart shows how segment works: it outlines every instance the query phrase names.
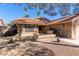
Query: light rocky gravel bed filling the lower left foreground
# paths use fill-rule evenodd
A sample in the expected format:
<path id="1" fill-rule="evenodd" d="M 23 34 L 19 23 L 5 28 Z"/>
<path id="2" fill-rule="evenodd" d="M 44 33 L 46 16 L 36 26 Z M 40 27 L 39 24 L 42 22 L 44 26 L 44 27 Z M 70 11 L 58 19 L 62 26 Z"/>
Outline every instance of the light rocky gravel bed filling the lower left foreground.
<path id="1" fill-rule="evenodd" d="M 1 45 L 2 46 L 2 45 Z M 0 48 L 2 56 L 54 56 L 54 52 L 46 47 L 28 41 L 8 43 Z"/>

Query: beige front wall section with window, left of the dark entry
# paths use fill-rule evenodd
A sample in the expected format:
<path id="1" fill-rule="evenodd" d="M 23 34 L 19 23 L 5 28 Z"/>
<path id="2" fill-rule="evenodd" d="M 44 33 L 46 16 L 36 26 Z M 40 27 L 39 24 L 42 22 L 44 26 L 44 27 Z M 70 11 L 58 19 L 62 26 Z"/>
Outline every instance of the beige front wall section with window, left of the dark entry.
<path id="1" fill-rule="evenodd" d="M 33 36 L 33 33 L 35 32 L 38 33 L 37 27 L 25 28 L 24 26 L 25 26 L 24 24 L 17 25 L 17 31 L 18 31 L 18 34 L 20 33 L 20 36 Z"/>

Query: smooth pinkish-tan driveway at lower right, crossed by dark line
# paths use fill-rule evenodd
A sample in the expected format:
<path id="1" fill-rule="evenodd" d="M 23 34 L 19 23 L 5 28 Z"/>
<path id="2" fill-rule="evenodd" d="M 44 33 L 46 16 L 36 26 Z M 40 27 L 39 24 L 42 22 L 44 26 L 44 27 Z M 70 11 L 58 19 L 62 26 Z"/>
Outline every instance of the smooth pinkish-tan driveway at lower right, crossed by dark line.
<path id="1" fill-rule="evenodd" d="M 65 41 L 56 42 L 53 40 L 49 41 L 48 38 L 45 38 L 34 43 L 52 50 L 56 56 L 79 56 L 79 45 L 70 44 Z"/>

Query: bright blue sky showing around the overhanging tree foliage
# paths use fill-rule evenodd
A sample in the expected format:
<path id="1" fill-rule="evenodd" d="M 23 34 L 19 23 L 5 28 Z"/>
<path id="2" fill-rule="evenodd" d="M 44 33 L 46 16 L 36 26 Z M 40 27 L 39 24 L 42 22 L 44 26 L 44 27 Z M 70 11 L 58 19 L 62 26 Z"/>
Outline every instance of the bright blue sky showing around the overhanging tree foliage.
<path id="1" fill-rule="evenodd" d="M 26 5 L 22 4 L 21 6 L 17 6 L 12 3 L 0 4 L 0 19 L 2 19 L 4 23 L 10 23 L 17 18 L 23 17 L 26 14 L 26 12 L 23 10 L 24 6 Z M 35 9 L 30 9 L 27 11 L 27 13 L 30 15 L 30 18 L 36 17 Z M 57 14 L 56 16 L 48 16 L 42 13 L 40 16 L 47 17 L 50 20 L 61 18 L 60 14 Z"/>

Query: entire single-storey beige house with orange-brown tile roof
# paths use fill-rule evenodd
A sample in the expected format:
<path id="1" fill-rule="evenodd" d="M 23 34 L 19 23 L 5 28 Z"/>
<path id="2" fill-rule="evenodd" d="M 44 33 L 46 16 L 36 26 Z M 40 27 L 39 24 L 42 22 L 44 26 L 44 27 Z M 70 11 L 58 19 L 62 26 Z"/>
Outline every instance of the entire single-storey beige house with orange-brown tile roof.
<path id="1" fill-rule="evenodd" d="M 19 18 L 12 21 L 13 26 L 17 27 L 17 33 L 21 36 L 27 33 L 37 32 L 47 33 L 53 31 L 54 34 L 66 38 L 79 38 L 79 14 L 66 16 L 64 18 L 49 21 L 44 17 Z"/>

